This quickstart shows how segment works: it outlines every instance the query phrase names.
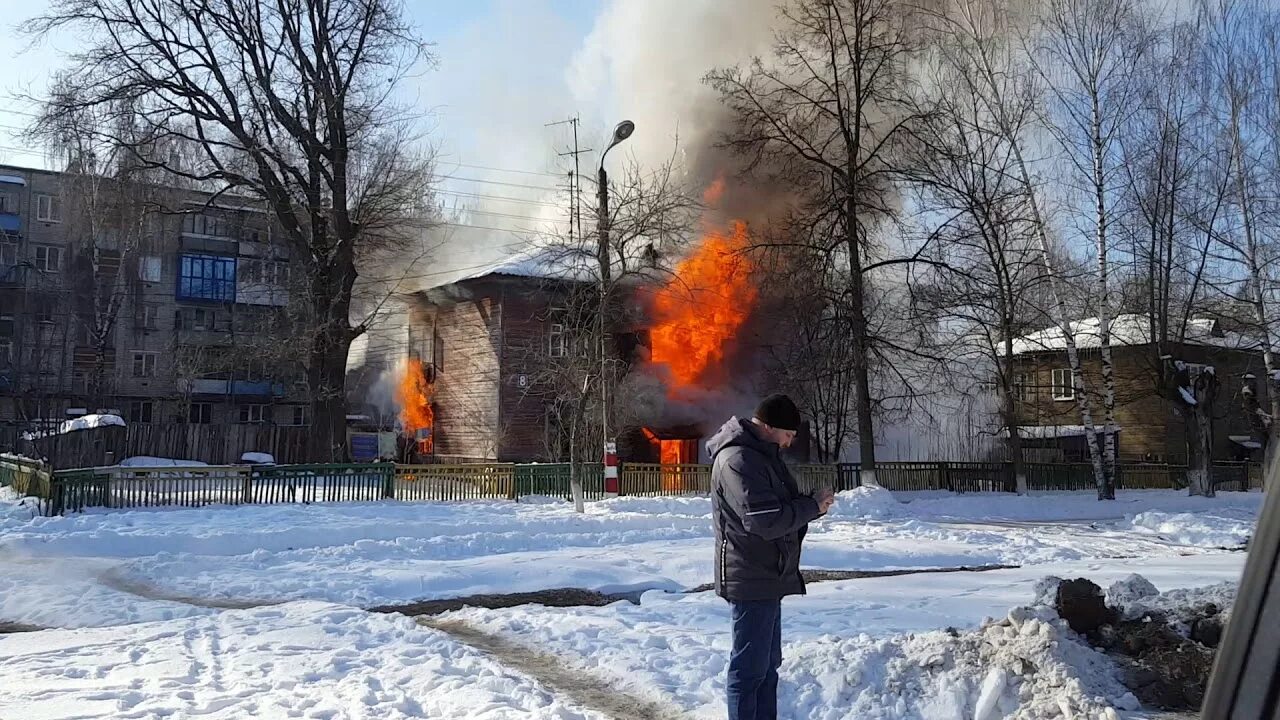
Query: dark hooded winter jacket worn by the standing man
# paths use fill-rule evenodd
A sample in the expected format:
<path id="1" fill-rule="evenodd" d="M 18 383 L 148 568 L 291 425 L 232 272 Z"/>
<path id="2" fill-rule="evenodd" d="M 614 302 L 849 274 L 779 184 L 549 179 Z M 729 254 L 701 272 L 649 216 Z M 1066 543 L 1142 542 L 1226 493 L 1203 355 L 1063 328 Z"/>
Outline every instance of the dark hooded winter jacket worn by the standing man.
<path id="1" fill-rule="evenodd" d="M 800 543 L 818 501 L 801 495 L 778 446 L 731 418 L 707 442 L 712 456 L 716 593 L 730 602 L 804 594 Z"/>

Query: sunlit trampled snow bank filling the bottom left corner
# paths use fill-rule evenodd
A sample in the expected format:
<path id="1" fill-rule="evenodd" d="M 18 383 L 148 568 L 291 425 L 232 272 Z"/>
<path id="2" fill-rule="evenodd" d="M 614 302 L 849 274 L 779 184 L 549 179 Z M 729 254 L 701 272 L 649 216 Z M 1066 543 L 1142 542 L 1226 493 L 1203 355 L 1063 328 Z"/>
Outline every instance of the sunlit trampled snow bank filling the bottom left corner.
<path id="1" fill-rule="evenodd" d="M 604 720 L 399 616 L 305 602 L 0 635 L 0 716 Z"/>

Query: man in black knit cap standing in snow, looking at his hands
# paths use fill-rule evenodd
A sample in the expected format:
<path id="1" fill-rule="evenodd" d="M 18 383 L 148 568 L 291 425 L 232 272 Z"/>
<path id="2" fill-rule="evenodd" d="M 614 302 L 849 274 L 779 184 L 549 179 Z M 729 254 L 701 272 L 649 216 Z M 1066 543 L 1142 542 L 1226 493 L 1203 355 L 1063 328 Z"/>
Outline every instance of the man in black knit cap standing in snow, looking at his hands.
<path id="1" fill-rule="evenodd" d="M 801 495 L 780 450 L 800 429 L 785 395 L 765 397 L 750 420 L 730 418 L 707 442 L 712 455 L 716 593 L 730 602 L 730 720 L 778 716 L 782 598 L 804 594 L 800 543 L 835 502 L 831 489 Z"/>

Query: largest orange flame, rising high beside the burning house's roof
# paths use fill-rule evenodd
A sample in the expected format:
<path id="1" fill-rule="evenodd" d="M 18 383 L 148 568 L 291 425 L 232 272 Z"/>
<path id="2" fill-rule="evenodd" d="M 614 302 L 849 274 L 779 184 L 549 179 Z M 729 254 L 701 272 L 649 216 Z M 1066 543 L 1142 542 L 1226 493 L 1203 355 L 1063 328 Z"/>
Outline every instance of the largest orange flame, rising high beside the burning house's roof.
<path id="1" fill-rule="evenodd" d="M 707 191 L 718 200 L 723 183 Z M 730 232 L 708 229 L 698 250 L 676 265 L 675 277 L 654 297 L 654 325 L 649 331 L 654 363 L 671 369 L 678 387 L 714 382 L 731 341 L 755 304 L 753 263 L 746 223 L 735 220 Z"/>

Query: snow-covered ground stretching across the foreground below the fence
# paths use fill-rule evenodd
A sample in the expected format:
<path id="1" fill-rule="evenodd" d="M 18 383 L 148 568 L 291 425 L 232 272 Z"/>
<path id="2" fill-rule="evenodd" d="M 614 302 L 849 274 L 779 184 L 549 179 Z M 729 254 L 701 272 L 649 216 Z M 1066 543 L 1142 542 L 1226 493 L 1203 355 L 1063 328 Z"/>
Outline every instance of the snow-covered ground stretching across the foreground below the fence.
<path id="1" fill-rule="evenodd" d="M 1051 624 L 978 630 L 984 618 L 1029 603 L 1046 575 L 1106 585 L 1142 573 L 1161 589 L 1234 582 L 1244 556 L 1222 548 L 1247 541 L 1261 500 L 1165 491 L 1124 492 L 1106 503 L 1091 493 L 844 493 L 812 527 L 806 568 L 1020 568 L 813 584 L 785 606 L 783 715 L 932 719 L 961 707 L 972 716 L 987 682 L 1000 685 L 986 700 L 993 717 L 1002 716 L 1019 693 L 1043 688 L 1023 689 L 1014 675 L 988 678 L 979 669 L 992 660 L 977 648 L 1006 634 L 1037 652 L 1064 646 Z M 275 717 L 311 701 L 306 712 L 332 717 L 590 716 L 445 635 L 349 609 L 559 587 L 653 592 L 640 605 L 452 618 L 552 652 L 637 697 L 714 716 L 727 607 L 710 593 L 671 592 L 710 580 L 709 512 L 705 498 L 618 498 L 590 503 L 585 515 L 550 500 L 35 519 L 3 511 L 0 620 L 86 629 L 0 637 L 0 717 L 6 710 L 152 717 L 166 708 L 178 717 L 201 710 Z M 252 602 L 280 605 L 225 610 Z M 966 632 L 954 638 L 947 628 Z M 1087 650 L 1080 657 L 1055 650 L 1071 657 L 1044 661 L 1088 670 Z M 937 673 L 908 670 L 929 653 L 941 659 Z M 389 674 L 375 670 L 383 665 Z M 1070 697 L 1102 693 L 1126 705 L 1105 667 L 1089 671 L 1098 676 L 1073 680 L 1062 670 L 1062 683 L 1084 682 Z M 463 682 L 475 675 L 484 682 Z M 915 694 L 892 700 L 904 684 Z M 15 710 L 28 706 L 33 714 Z M 1057 712 L 1050 710 L 1042 715 Z"/>

